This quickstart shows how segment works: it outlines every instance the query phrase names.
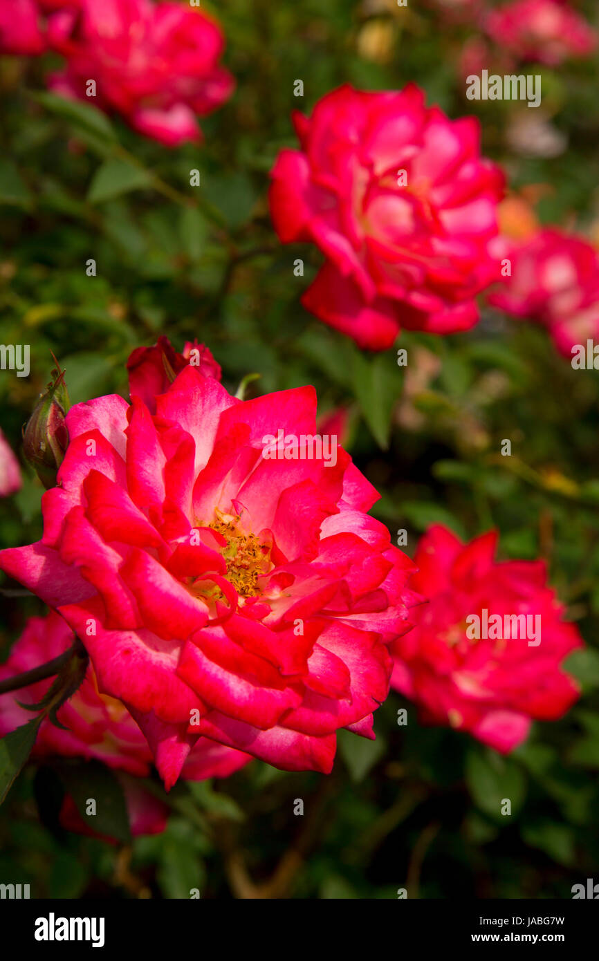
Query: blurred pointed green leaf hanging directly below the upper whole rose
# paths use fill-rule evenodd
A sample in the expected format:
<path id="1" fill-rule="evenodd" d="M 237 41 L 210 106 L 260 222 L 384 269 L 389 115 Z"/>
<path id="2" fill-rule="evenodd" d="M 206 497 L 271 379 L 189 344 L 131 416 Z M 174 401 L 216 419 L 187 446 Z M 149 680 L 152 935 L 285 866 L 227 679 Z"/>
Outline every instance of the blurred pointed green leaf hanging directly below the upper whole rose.
<path id="1" fill-rule="evenodd" d="M 352 382 L 362 415 L 375 440 L 388 448 L 391 414 L 400 396 L 402 379 L 390 354 L 365 357 L 358 351 L 353 356 Z"/>

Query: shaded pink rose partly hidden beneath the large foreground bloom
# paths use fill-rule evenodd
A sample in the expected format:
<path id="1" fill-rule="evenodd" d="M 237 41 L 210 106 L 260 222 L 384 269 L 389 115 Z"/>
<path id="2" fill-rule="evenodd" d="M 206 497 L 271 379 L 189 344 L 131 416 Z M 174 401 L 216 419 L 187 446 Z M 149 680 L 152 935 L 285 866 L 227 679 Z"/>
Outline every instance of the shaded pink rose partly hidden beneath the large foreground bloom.
<path id="1" fill-rule="evenodd" d="M 11 678 L 52 660 L 68 650 L 73 640 L 72 630 L 56 612 L 51 611 L 45 618 L 30 618 L 12 646 L 8 660 L 0 665 L 0 678 Z M 35 716 L 27 708 L 21 707 L 20 703 L 40 702 L 52 679 L 40 680 L 29 687 L 0 696 L 0 736 L 26 724 Z M 121 782 L 132 832 L 154 834 L 162 831 L 168 808 L 136 780 L 149 774 L 152 752 L 125 705 L 99 692 L 91 663 L 83 683 L 62 704 L 57 716 L 65 729 L 56 727 L 48 720 L 42 721 L 32 756 L 83 757 L 102 761 L 112 768 Z M 187 780 L 227 777 L 251 759 L 249 754 L 225 748 L 201 737 L 187 756 L 182 776 Z M 95 834 L 91 823 L 87 824 L 82 818 L 68 795 L 62 805 L 61 822 L 70 830 Z"/>

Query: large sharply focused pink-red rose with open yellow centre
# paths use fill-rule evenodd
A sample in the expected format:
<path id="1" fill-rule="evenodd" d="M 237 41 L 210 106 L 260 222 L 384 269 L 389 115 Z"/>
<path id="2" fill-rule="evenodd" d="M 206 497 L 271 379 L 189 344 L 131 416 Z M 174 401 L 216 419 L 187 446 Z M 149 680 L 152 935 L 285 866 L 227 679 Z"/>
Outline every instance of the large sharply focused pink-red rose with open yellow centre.
<path id="1" fill-rule="evenodd" d="M 167 786 L 200 734 L 324 772 L 339 727 L 374 736 L 412 562 L 351 458 L 308 439 L 315 410 L 312 387 L 241 402 L 190 365 L 155 415 L 72 407 L 43 538 L 0 554 L 81 637 Z"/>

